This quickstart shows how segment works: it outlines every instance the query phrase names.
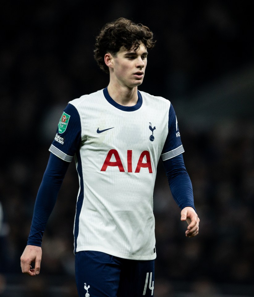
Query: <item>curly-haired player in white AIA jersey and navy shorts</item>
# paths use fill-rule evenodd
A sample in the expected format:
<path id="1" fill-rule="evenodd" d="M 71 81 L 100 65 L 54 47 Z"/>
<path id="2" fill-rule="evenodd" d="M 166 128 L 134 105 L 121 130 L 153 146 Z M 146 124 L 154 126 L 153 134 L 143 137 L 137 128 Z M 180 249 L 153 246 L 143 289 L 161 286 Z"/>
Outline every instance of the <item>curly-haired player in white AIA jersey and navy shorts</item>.
<path id="1" fill-rule="evenodd" d="M 153 296 L 153 190 L 159 158 L 182 209 L 181 220 L 188 223 L 186 236 L 198 234 L 173 106 L 138 91 L 147 50 L 154 44 L 148 27 L 124 18 L 106 24 L 97 36 L 95 59 L 110 81 L 108 87 L 70 101 L 60 118 L 21 256 L 23 273 L 40 272 L 44 228 L 73 157 L 80 184 L 74 222 L 80 297 Z"/>

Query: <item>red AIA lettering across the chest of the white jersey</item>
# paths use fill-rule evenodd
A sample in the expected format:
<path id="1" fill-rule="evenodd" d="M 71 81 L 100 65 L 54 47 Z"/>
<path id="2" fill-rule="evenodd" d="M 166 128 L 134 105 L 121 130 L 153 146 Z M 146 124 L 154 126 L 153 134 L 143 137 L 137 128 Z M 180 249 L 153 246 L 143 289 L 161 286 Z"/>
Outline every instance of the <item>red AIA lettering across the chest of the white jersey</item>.
<path id="1" fill-rule="evenodd" d="M 108 154 L 107 157 L 101 167 L 100 171 L 106 171 L 108 166 L 111 167 L 118 167 L 120 172 L 133 172 L 133 169 L 135 169 L 135 173 L 139 173 L 141 168 L 147 168 L 147 170 L 149 171 L 149 173 L 153 173 L 152 170 L 152 164 L 151 164 L 151 157 L 150 157 L 150 153 L 149 151 L 143 151 L 138 159 L 138 164 L 133 167 L 132 164 L 132 150 L 128 149 L 127 150 L 127 168 L 124 168 L 123 166 L 123 162 L 119 156 L 119 153 L 117 152 L 116 149 L 111 149 Z M 115 159 L 116 161 L 111 161 L 111 159 Z"/>

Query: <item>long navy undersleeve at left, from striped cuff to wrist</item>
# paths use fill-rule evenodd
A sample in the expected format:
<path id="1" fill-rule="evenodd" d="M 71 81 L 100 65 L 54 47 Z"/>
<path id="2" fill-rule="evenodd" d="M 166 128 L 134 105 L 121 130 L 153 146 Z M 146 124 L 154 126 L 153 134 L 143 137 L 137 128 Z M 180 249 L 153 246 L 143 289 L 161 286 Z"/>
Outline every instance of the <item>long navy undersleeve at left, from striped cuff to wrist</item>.
<path id="1" fill-rule="evenodd" d="M 50 153 L 49 162 L 36 197 L 27 244 L 41 246 L 46 223 L 55 206 L 69 164 Z"/>

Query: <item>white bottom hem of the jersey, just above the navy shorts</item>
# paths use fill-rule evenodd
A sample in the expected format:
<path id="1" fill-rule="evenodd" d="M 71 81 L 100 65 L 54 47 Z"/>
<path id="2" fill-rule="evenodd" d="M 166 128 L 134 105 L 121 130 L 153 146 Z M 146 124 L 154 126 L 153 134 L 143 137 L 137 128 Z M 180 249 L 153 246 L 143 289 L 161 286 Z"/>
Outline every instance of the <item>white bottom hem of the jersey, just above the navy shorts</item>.
<path id="1" fill-rule="evenodd" d="M 129 260 L 154 260 L 156 258 L 156 252 L 152 255 L 129 255 L 123 253 L 112 252 L 110 250 L 104 248 L 96 248 L 96 247 L 80 247 L 74 250 L 74 253 L 81 252 L 81 251 L 95 251 L 95 252 L 103 252 L 108 255 L 119 257 L 122 259 L 129 259 Z"/>

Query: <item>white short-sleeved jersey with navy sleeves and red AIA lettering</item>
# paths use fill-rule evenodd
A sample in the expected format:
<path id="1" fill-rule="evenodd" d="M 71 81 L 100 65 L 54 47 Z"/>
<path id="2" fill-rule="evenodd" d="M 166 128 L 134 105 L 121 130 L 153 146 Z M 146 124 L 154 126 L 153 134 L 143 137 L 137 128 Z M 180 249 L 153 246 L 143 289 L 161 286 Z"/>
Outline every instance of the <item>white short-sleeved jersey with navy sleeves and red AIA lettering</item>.
<path id="1" fill-rule="evenodd" d="M 153 191 L 159 158 L 184 152 L 170 101 L 138 91 L 122 106 L 107 88 L 70 101 L 50 152 L 75 157 L 79 192 L 74 252 L 153 260 Z"/>

